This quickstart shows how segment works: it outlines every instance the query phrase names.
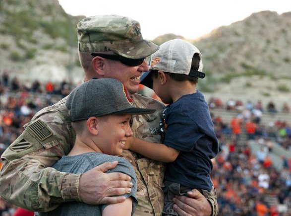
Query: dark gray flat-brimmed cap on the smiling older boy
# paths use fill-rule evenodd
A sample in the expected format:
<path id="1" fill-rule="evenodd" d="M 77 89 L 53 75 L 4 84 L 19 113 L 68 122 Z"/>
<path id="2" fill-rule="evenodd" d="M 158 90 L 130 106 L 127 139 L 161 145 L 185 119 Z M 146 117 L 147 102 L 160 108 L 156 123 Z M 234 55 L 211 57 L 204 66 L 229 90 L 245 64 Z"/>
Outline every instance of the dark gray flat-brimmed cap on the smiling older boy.
<path id="1" fill-rule="evenodd" d="M 156 110 L 136 108 L 125 86 L 117 79 L 93 78 L 76 87 L 66 107 L 72 122 L 108 114 L 148 114 Z"/>

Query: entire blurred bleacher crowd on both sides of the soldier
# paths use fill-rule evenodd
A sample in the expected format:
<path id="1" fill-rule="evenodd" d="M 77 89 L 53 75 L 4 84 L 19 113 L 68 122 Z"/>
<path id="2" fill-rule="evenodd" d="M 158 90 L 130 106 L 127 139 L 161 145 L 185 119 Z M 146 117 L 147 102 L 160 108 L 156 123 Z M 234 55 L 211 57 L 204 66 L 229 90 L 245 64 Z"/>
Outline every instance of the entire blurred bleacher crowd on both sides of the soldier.
<path id="1" fill-rule="evenodd" d="M 21 82 L 7 73 L 0 77 L 0 154 L 23 131 L 34 114 L 66 96 L 75 85 L 68 82 Z M 274 142 L 291 151 L 291 127 L 277 120 L 267 125 L 261 123 L 265 112 L 290 113 L 285 103 L 282 109 L 270 101 L 265 107 L 261 101 L 245 104 L 230 99 L 224 103 L 219 98 L 208 101 L 210 111 L 224 109 L 236 112 L 230 122 L 212 115 L 220 152 L 213 160 L 213 183 L 218 194 L 220 215 L 277 216 L 291 215 L 291 158 L 282 157 L 283 169 L 273 166 L 268 157 Z M 247 139 L 242 142 L 241 136 Z M 248 144 L 255 140 L 260 150 L 252 152 Z M 1 209 L 15 211 L 15 207 L 0 199 Z M 9 213 L 7 213 L 9 214 Z"/>

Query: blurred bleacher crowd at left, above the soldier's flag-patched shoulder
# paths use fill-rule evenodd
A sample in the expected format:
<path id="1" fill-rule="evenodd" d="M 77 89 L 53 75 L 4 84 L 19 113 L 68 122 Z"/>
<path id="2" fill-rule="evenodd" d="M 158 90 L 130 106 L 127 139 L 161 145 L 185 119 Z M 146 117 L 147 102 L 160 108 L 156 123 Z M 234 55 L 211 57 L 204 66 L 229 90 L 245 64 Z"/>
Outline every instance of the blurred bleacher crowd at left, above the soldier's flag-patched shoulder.
<path id="1" fill-rule="evenodd" d="M 0 77 L 0 143 L 11 144 L 34 114 L 69 94 L 74 85 L 61 83 L 21 82 L 7 73 Z"/>

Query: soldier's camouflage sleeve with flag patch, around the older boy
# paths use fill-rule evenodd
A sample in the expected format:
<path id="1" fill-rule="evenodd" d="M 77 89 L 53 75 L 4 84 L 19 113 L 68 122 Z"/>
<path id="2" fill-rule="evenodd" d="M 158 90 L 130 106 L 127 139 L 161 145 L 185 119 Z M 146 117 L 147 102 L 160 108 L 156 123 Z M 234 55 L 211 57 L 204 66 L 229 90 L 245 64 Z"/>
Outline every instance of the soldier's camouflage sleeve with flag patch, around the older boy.
<path id="1" fill-rule="evenodd" d="M 51 166 L 73 144 L 64 102 L 40 111 L 2 154 L 0 195 L 32 211 L 51 211 L 58 203 L 79 201 L 80 175 L 58 172 Z"/>

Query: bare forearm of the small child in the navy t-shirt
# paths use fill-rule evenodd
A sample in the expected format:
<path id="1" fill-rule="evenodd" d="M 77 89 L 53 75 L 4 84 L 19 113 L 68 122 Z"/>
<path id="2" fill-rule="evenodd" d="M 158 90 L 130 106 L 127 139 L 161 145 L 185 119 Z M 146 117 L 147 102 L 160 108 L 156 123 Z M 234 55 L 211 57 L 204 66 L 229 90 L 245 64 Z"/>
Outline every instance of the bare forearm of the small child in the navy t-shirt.
<path id="1" fill-rule="evenodd" d="M 125 149 L 130 149 L 148 158 L 166 163 L 173 162 L 180 152 L 164 144 L 150 143 L 134 137 L 127 138 Z"/>

